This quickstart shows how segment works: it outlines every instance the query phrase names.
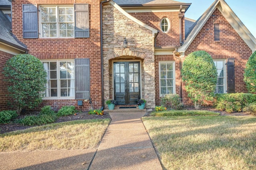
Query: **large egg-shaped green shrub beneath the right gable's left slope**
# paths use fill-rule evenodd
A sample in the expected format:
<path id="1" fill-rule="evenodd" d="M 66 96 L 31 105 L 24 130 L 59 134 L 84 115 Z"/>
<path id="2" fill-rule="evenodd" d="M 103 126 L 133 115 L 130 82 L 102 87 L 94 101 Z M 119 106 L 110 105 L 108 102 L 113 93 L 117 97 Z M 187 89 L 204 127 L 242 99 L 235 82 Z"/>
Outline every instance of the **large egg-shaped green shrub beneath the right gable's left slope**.
<path id="1" fill-rule="evenodd" d="M 188 97 L 199 108 L 204 100 L 212 100 L 217 84 L 217 69 L 206 51 L 195 51 L 182 64 L 182 81 Z"/>

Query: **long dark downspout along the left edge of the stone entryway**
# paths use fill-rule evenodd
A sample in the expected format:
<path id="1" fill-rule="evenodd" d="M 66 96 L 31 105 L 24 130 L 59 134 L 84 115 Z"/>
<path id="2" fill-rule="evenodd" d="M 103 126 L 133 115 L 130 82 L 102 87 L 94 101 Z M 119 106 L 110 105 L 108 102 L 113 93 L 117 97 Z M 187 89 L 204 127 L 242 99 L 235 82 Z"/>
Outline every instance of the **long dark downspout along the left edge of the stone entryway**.
<path id="1" fill-rule="evenodd" d="M 104 0 L 100 2 L 100 61 L 101 61 L 101 96 L 102 96 L 102 107 L 100 110 L 104 109 L 104 81 L 103 81 L 103 35 L 102 35 L 102 4 L 108 2 L 109 0 Z"/>

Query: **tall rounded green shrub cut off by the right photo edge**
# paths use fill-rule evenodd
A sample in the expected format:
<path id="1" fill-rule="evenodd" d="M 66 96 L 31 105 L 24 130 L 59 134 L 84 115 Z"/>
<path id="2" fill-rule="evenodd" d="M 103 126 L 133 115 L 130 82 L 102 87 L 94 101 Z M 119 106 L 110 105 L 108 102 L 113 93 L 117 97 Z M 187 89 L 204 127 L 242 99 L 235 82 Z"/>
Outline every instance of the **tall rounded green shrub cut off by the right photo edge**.
<path id="1" fill-rule="evenodd" d="M 250 93 L 256 93 L 256 51 L 248 59 L 244 69 L 244 82 Z"/>

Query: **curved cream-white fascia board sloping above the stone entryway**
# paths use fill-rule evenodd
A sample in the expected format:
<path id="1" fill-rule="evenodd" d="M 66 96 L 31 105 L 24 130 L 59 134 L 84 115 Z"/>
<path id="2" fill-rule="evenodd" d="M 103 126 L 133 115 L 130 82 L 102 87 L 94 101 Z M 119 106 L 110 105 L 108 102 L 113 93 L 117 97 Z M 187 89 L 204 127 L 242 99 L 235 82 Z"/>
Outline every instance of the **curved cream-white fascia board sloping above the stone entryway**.
<path id="1" fill-rule="evenodd" d="M 133 16 L 131 16 L 130 14 L 128 14 L 125 10 L 123 10 L 118 4 L 116 4 L 114 1 L 110 0 L 109 1 L 110 4 L 112 4 L 118 11 L 120 11 L 122 14 L 124 14 L 124 16 L 126 16 L 127 18 L 129 18 L 130 20 L 138 23 L 139 25 L 141 25 L 142 27 L 145 27 L 146 29 L 149 29 L 152 31 L 152 37 L 155 37 L 155 34 L 158 32 L 157 29 L 154 29 L 148 25 L 146 25 L 145 23 L 143 23 L 142 21 L 134 18 Z"/>

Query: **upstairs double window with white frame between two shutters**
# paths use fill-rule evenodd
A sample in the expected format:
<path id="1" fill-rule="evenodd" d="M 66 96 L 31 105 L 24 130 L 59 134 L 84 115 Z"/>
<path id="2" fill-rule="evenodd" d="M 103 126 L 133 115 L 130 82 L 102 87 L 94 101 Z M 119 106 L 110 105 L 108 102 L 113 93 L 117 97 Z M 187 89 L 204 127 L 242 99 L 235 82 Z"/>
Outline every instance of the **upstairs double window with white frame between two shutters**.
<path id="1" fill-rule="evenodd" d="M 42 38 L 74 37 L 73 6 L 41 6 L 39 11 Z"/>

